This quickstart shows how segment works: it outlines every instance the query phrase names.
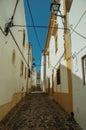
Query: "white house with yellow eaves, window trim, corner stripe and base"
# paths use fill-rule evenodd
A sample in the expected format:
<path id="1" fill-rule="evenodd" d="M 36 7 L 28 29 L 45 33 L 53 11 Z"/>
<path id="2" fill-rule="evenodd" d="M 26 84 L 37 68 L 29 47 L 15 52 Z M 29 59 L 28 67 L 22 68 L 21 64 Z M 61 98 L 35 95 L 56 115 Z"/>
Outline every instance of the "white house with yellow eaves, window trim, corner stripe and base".
<path id="1" fill-rule="evenodd" d="M 61 13 L 64 14 L 64 3 L 61 1 Z M 59 14 L 60 15 L 60 14 Z M 67 18 L 65 18 L 67 20 Z M 43 90 L 54 96 L 55 100 L 68 112 L 72 107 L 71 61 L 68 30 L 64 30 L 67 21 L 54 14 L 50 16 L 47 39 L 42 58 L 41 73 Z M 65 22 L 65 23 L 63 23 Z M 43 63 L 44 62 L 44 63 Z M 41 71 L 42 71 L 41 70 Z M 45 72 L 44 72 L 45 71 Z"/>

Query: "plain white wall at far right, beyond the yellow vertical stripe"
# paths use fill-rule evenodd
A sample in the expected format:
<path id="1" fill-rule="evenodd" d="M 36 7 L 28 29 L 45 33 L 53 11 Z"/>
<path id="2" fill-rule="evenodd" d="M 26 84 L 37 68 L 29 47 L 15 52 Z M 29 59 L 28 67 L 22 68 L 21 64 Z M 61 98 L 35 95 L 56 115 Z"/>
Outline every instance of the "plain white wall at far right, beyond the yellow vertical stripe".
<path id="1" fill-rule="evenodd" d="M 69 26 L 86 37 L 86 1 L 74 0 L 69 12 Z M 86 85 L 83 85 L 82 57 L 86 54 L 86 38 L 71 30 L 73 109 L 75 119 L 86 129 Z"/>

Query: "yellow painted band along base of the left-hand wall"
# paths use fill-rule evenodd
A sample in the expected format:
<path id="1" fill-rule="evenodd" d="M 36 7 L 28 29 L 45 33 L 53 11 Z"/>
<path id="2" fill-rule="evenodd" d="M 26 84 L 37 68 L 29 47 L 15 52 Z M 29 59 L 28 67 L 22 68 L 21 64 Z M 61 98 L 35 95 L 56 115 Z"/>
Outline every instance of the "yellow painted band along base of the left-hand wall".
<path id="1" fill-rule="evenodd" d="M 25 93 L 15 93 L 11 102 L 0 106 L 0 121 L 7 115 L 7 113 L 25 96 Z"/>

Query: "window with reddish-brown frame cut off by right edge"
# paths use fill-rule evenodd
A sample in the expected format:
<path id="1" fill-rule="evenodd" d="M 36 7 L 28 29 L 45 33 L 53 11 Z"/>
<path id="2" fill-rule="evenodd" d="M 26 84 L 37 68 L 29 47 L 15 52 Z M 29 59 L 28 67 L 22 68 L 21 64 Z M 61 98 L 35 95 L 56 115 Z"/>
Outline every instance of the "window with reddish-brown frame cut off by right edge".
<path id="1" fill-rule="evenodd" d="M 83 84 L 86 84 L 86 55 L 82 57 Z"/>

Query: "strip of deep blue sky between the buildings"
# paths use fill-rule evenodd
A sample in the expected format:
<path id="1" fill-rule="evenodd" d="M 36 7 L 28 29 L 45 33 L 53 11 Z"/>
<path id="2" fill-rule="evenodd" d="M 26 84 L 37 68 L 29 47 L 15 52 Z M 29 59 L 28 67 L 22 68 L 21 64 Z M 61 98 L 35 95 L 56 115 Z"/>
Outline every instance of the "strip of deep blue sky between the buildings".
<path id="1" fill-rule="evenodd" d="M 40 71 L 41 53 L 44 49 L 50 18 L 50 4 L 52 0 L 24 0 L 28 41 L 32 44 L 36 70 Z M 40 27 L 33 27 L 40 26 Z"/>

